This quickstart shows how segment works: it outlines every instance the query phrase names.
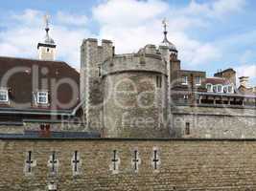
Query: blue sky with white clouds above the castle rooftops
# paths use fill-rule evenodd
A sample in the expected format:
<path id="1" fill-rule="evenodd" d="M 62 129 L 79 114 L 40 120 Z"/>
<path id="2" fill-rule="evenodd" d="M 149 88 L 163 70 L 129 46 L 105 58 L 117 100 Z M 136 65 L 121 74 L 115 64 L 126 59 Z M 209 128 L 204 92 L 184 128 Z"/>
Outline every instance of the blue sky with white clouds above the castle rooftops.
<path id="1" fill-rule="evenodd" d="M 80 69 L 84 38 L 110 39 L 116 53 L 136 53 L 168 38 L 183 69 L 234 68 L 256 85 L 255 0 L 0 0 L 0 55 L 37 58 L 45 35 L 43 15 L 51 15 L 50 35 L 57 59 Z"/>

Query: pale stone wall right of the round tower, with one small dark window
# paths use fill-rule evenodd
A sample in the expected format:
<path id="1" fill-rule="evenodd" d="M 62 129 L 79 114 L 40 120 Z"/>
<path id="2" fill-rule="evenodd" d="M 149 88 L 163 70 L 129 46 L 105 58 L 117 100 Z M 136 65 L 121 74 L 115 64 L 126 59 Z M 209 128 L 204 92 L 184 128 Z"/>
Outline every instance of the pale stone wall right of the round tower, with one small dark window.
<path id="1" fill-rule="evenodd" d="M 256 110 L 251 108 L 175 106 L 172 132 L 177 138 L 255 138 Z M 185 135 L 186 123 L 190 135 Z"/>

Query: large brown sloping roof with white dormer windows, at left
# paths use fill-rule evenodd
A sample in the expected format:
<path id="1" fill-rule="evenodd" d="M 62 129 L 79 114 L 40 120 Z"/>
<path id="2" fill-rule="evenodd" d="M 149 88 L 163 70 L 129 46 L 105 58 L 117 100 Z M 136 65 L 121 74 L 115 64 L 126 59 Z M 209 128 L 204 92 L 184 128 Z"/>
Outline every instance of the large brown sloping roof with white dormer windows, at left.
<path id="1" fill-rule="evenodd" d="M 4 76 L 12 72 L 14 74 L 11 74 L 8 83 L 3 84 Z M 56 83 L 64 79 L 70 79 L 73 83 L 71 85 L 62 83 L 56 92 L 53 91 L 53 88 L 57 87 Z M 8 89 L 10 98 L 8 104 L 0 104 L 1 109 L 49 111 L 56 105 L 56 111 L 67 111 L 74 109 L 80 101 L 80 74 L 62 61 L 0 56 L 0 82 L 0 87 L 6 86 L 4 88 Z M 72 92 L 72 87 L 78 90 L 75 94 Z M 35 95 L 40 90 L 49 92 L 48 105 L 36 104 Z"/>

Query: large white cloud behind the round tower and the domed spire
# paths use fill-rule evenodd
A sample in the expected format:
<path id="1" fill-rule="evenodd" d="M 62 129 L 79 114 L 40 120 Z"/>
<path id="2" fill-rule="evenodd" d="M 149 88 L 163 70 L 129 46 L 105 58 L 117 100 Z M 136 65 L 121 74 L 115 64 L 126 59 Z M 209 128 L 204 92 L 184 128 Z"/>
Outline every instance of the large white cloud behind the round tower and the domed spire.
<path id="1" fill-rule="evenodd" d="M 199 14 L 220 14 L 221 5 L 221 1 L 192 1 L 185 8 L 175 8 L 160 0 L 109 0 L 95 7 L 93 16 L 100 23 L 100 37 L 112 39 L 117 53 L 136 52 L 148 43 L 159 44 L 163 39 L 161 20 L 167 16 L 169 40 L 175 43 L 183 61 L 195 65 L 215 60 L 221 52 L 211 42 L 191 38 L 187 30 L 205 28 L 207 22 Z"/>

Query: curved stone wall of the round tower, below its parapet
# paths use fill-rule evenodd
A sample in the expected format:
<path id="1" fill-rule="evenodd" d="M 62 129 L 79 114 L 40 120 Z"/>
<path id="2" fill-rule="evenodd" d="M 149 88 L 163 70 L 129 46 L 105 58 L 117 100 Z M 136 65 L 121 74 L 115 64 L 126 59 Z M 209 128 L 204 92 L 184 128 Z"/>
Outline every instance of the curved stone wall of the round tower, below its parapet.
<path id="1" fill-rule="evenodd" d="M 157 87 L 156 78 L 161 78 Z M 105 77 L 104 127 L 110 138 L 167 138 L 167 77 L 126 72 Z"/>

